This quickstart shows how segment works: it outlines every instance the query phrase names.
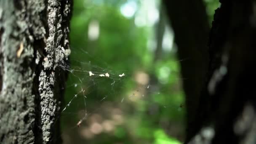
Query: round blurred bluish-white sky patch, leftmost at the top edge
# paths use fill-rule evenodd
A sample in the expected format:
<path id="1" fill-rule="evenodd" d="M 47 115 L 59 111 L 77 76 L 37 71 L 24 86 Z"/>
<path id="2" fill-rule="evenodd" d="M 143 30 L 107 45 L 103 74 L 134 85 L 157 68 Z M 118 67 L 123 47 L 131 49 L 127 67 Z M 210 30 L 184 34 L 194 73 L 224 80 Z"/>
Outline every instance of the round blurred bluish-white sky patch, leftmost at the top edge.
<path id="1" fill-rule="evenodd" d="M 134 0 L 128 0 L 120 7 L 120 11 L 126 18 L 132 18 L 138 9 L 138 5 Z"/>

